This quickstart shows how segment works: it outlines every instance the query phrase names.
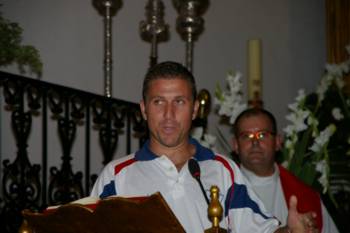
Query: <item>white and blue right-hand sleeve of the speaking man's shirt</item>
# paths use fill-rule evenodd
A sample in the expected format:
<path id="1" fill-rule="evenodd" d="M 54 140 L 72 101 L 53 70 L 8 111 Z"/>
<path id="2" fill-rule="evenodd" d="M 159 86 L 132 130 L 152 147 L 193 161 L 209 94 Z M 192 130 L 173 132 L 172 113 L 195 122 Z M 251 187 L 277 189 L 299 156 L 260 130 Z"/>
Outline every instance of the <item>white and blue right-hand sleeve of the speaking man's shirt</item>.
<path id="1" fill-rule="evenodd" d="M 227 194 L 229 211 L 226 218 L 231 232 L 275 232 L 280 227 L 279 221 L 266 211 L 239 167 L 233 161 L 230 164 L 234 170 L 234 184 L 230 191 L 232 197 Z"/>

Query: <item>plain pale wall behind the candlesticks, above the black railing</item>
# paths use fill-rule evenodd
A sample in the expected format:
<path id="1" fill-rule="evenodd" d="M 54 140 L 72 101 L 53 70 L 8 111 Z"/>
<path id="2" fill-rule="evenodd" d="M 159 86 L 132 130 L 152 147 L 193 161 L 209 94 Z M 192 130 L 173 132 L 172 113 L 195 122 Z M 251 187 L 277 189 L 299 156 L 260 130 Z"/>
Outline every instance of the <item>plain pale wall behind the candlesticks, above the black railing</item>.
<path id="1" fill-rule="evenodd" d="M 20 23 L 24 43 L 36 46 L 44 62 L 42 79 L 103 93 L 103 21 L 86 0 L 4 0 L 1 11 Z M 175 31 L 177 12 L 163 0 L 170 40 L 159 45 L 159 61 L 184 62 L 184 42 Z M 138 102 L 150 45 L 139 36 L 146 0 L 124 0 L 113 17 L 113 96 Z M 205 31 L 195 44 L 198 88 L 212 94 L 231 69 L 244 74 L 246 43 L 263 42 L 263 100 L 285 125 L 287 104 L 299 88 L 313 90 L 325 63 L 325 11 L 320 0 L 211 0 Z M 1 68 L 16 72 L 13 67 Z M 132 91 L 131 91 L 132 90 Z M 210 115 L 215 134 L 217 116 Z M 227 133 L 229 137 L 229 133 Z"/>

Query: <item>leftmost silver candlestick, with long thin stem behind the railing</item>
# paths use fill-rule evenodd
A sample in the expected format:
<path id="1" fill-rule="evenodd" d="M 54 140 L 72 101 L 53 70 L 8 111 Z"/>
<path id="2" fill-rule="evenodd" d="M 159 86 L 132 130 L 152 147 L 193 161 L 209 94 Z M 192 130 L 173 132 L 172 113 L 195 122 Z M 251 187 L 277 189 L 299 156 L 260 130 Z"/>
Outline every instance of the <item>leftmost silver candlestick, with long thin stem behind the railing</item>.
<path id="1" fill-rule="evenodd" d="M 112 16 L 122 6 L 122 2 L 93 0 L 92 4 L 104 17 L 104 94 L 112 97 Z"/>

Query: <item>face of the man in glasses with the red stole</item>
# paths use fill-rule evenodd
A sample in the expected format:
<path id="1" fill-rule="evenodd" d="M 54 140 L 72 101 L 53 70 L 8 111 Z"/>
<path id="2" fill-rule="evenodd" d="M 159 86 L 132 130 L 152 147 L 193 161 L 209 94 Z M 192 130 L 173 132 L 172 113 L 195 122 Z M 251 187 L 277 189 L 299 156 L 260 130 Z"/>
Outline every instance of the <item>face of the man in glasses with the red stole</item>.
<path id="1" fill-rule="evenodd" d="M 260 176 L 271 175 L 281 138 L 272 131 L 269 118 L 263 114 L 244 117 L 239 121 L 238 131 L 233 149 L 243 166 Z"/>

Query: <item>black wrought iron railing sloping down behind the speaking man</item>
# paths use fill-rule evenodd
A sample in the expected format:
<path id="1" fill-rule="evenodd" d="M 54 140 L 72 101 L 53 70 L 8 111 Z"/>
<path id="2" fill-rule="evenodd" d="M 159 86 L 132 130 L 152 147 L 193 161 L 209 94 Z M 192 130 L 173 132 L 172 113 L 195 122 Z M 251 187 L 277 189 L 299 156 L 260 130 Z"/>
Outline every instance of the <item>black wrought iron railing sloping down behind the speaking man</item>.
<path id="1" fill-rule="evenodd" d="M 0 91 L 4 233 L 18 231 L 23 209 L 88 195 L 99 167 L 138 148 L 145 136 L 135 103 L 5 72 Z"/>

